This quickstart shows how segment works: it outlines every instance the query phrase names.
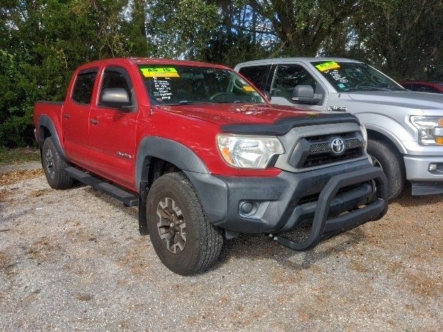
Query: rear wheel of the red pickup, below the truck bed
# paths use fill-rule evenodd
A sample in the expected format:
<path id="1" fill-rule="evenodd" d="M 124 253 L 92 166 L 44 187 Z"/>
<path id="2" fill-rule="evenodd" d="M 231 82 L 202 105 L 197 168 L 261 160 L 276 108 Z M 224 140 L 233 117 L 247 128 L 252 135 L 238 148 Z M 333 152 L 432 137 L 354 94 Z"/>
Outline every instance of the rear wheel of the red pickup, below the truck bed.
<path id="1" fill-rule="evenodd" d="M 51 137 L 46 138 L 43 143 L 42 166 L 51 188 L 66 189 L 72 187 L 73 178 L 64 172 L 68 164 L 60 157 Z"/>

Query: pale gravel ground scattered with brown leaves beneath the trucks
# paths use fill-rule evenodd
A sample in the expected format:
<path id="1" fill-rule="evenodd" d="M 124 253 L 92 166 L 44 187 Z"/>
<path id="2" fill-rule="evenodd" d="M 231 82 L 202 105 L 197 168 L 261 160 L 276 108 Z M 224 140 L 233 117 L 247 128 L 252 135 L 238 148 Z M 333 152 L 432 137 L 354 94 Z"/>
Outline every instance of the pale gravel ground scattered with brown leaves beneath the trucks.
<path id="1" fill-rule="evenodd" d="M 242 235 L 181 277 L 138 234 L 136 209 L 16 177 L 0 185 L 0 331 L 443 329 L 443 196 L 405 192 L 309 252 Z"/>

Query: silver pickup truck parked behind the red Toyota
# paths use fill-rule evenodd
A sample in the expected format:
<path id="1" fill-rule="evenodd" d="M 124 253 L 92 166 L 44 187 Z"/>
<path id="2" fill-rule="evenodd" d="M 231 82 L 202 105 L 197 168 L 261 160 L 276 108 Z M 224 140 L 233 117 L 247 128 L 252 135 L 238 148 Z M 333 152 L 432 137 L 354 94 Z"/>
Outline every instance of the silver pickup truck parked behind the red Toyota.
<path id="1" fill-rule="evenodd" d="M 265 59 L 235 70 L 273 104 L 357 116 L 368 130 L 368 153 L 388 178 L 390 199 L 406 180 L 413 195 L 443 193 L 443 95 L 406 90 L 352 59 Z"/>

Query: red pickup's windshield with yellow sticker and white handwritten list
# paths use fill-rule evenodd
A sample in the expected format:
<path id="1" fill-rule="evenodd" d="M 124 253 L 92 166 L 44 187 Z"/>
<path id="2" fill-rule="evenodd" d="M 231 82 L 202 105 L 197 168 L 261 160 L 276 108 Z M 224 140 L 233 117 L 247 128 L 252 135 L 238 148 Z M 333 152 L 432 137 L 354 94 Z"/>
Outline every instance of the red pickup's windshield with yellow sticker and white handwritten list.
<path id="1" fill-rule="evenodd" d="M 168 64 L 139 68 L 152 104 L 265 102 L 253 86 L 227 69 Z"/>

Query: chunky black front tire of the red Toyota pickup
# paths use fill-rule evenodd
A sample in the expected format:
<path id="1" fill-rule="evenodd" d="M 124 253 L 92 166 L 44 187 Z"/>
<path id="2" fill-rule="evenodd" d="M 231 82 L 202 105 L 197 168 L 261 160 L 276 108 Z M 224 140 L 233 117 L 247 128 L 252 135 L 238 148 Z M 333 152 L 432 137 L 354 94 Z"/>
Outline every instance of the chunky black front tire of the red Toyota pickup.
<path id="1" fill-rule="evenodd" d="M 172 219 L 162 219 L 161 215 L 157 214 L 157 209 L 162 209 L 161 202 L 166 203 L 167 206 L 164 208 L 166 210 L 172 201 L 175 207 L 173 211 L 176 211 L 176 214 L 172 213 L 172 216 L 177 219 L 180 215 L 181 222 L 186 225 L 186 228 L 183 228 L 185 232 L 182 233 L 186 237 L 184 246 L 182 244 L 183 249 L 177 245 L 174 245 L 174 248 L 168 248 L 170 242 L 167 239 L 162 240 L 160 235 L 160 232 L 163 232 L 163 237 L 166 233 L 175 232 L 174 236 L 179 239 L 174 237 L 172 238 L 174 241 L 171 242 L 177 243 L 183 240 L 180 238 L 180 228 L 176 230 L 169 228 L 170 232 L 166 232 L 168 226 L 165 224 Z M 208 221 L 194 187 L 182 172 L 165 174 L 154 181 L 147 195 L 146 215 L 152 246 L 163 264 L 172 272 L 179 275 L 194 275 L 208 270 L 219 258 L 224 244 L 223 233 L 220 228 Z M 157 223 L 162 223 L 160 229 Z M 174 253 L 171 250 L 177 252 Z"/>

